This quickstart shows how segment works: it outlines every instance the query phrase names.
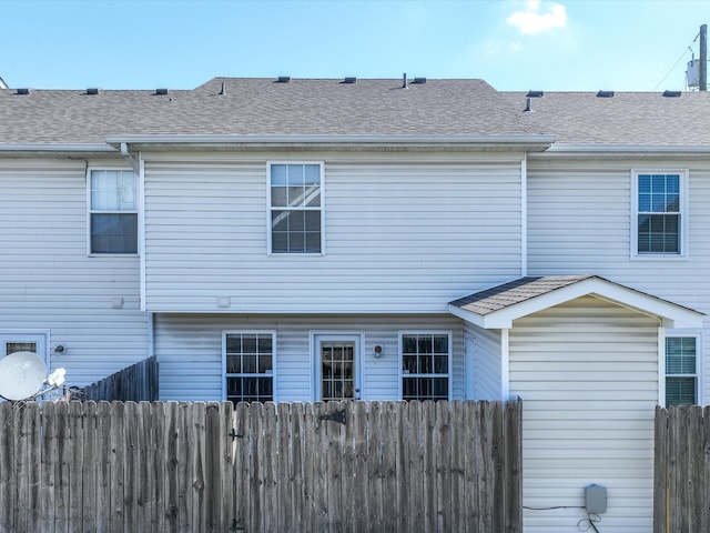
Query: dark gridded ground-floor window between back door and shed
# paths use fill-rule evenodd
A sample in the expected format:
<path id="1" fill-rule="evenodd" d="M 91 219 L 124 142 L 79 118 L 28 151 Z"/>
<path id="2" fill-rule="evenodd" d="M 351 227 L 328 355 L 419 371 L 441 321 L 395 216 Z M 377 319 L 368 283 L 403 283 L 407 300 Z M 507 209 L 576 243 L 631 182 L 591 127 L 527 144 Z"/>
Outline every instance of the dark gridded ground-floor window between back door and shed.
<path id="1" fill-rule="evenodd" d="M 450 333 L 402 333 L 402 399 L 448 400 Z"/>

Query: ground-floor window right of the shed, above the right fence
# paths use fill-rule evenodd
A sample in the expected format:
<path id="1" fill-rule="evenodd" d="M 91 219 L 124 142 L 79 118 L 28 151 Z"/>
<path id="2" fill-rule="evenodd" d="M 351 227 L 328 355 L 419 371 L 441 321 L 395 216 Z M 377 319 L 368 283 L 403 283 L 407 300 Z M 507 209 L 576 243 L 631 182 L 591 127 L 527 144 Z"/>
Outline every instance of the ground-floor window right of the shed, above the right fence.
<path id="1" fill-rule="evenodd" d="M 698 403 L 698 338 L 666 338 L 666 406 Z"/>

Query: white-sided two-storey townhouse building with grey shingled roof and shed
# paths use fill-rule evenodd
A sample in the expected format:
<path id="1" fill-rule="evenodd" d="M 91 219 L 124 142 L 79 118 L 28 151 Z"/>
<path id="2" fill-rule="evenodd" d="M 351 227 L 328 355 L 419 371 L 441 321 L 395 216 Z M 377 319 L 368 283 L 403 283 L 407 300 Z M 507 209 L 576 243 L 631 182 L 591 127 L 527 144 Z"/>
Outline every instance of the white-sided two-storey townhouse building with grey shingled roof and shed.
<path id="1" fill-rule="evenodd" d="M 526 532 L 652 523 L 706 403 L 706 92 L 215 78 L 0 90 L 0 341 L 162 400 L 524 401 Z"/>

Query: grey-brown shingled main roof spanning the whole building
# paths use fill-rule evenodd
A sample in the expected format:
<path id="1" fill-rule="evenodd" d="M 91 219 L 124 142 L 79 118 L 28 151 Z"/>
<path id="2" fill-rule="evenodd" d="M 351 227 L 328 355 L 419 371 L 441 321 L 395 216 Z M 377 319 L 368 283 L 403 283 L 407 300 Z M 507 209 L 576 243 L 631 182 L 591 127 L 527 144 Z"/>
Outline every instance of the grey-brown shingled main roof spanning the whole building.
<path id="1" fill-rule="evenodd" d="M 352 81 L 352 80 L 351 80 Z M 423 81 L 423 80 L 422 80 Z M 110 135 L 555 135 L 556 144 L 708 147 L 710 93 L 500 92 L 481 80 L 214 78 L 193 90 L 0 89 L 0 147 Z M 89 93 L 94 92 L 94 93 Z M 163 92 L 163 91 L 160 91 Z"/>

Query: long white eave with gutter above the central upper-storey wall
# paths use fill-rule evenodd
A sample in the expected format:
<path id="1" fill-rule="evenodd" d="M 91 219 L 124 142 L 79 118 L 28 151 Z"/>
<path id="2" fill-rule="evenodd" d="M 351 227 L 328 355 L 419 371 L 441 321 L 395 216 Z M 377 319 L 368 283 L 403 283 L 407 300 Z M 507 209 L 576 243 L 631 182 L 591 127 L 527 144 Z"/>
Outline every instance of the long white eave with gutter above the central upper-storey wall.
<path id="1" fill-rule="evenodd" d="M 109 135 L 114 149 L 131 151 L 525 151 L 540 152 L 554 135 Z"/>

